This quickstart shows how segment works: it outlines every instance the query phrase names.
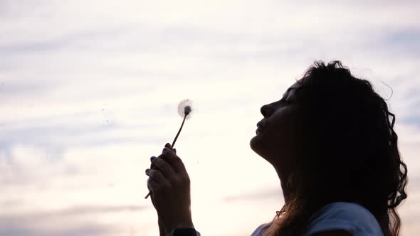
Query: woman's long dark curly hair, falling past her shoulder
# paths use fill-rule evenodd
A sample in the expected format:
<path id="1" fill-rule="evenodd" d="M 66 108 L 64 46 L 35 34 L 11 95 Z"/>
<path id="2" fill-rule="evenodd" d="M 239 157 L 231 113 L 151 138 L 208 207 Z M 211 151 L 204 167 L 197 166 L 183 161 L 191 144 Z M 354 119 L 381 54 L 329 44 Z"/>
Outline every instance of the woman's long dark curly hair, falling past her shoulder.
<path id="1" fill-rule="evenodd" d="M 266 227 L 303 235 L 316 210 L 345 201 L 367 208 L 385 236 L 398 236 L 408 179 L 387 102 L 340 61 L 317 61 L 298 82 L 297 101 L 308 115 L 305 154 L 298 155 L 290 203 Z"/>

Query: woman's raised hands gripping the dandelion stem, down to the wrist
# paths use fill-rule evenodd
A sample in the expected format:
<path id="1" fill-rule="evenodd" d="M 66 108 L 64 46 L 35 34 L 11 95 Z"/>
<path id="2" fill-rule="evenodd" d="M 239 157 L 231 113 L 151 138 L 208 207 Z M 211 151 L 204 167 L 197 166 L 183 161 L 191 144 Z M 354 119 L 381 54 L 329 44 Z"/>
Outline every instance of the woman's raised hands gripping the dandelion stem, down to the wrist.
<path id="1" fill-rule="evenodd" d="M 154 168 L 146 169 L 147 188 L 152 191 L 159 224 L 162 223 L 168 233 L 175 227 L 194 227 L 189 176 L 176 152 L 166 144 L 161 155 L 150 158 Z"/>

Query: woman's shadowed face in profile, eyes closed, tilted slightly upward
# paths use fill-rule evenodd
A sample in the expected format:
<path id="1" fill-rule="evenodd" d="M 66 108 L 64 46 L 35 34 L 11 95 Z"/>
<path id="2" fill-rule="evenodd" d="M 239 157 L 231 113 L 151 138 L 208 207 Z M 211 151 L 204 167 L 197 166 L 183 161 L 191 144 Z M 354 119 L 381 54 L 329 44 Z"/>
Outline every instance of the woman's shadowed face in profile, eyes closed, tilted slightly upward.
<path id="1" fill-rule="evenodd" d="M 295 82 L 284 93 L 281 100 L 263 105 L 263 119 L 258 122 L 256 136 L 250 141 L 250 146 L 256 154 L 262 156 L 273 165 L 290 168 L 295 159 L 300 136 L 301 122 L 305 122 L 303 109 L 299 106 L 295 94 L 301 85 Z"/>

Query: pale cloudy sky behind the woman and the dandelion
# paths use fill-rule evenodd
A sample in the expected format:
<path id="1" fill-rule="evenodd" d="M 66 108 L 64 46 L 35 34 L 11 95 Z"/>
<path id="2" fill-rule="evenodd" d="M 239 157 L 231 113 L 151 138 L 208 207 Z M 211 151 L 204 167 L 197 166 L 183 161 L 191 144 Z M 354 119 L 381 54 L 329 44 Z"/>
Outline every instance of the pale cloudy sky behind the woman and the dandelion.
<path id="1" fill-rule="evenodd" d="M 249 140 L 315 61 L 371 81 L 420 226 L 419 1 L 0 0 L 0 236 L 157 235 L 149 157 L 176 144 L 206 235 L 250 235 L 283 205 Z"/>

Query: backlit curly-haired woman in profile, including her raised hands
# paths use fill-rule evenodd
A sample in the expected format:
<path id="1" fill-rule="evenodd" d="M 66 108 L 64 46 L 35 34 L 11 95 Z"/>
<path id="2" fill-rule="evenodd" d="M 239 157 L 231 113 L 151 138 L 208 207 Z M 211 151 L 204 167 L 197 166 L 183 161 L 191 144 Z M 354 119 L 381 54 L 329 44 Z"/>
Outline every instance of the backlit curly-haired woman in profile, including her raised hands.
<path id="1" fill-rule="evenodd" d="M 261 107 L 250 146 L 273 165 L 285 203 L 253 236 L 398 236 L 407 168 L 395 116 L 340 61 L 315 62 L 281 100 Z M 189 176 L 167 144 L 147 169 L 160 235 L 196 235 Z"/>

